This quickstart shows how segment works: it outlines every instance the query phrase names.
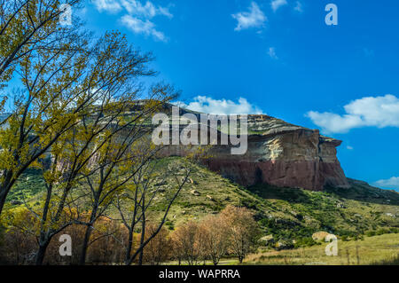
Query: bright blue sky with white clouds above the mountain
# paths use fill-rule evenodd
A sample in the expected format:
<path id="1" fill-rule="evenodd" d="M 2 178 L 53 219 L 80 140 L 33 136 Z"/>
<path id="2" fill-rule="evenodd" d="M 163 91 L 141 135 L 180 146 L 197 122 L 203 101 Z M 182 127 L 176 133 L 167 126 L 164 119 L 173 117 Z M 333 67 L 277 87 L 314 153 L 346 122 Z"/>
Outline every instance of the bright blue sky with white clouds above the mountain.
<path id="1" fill-rule="evenodd" d="M 348 177 L 399 189 L 398 12 L 397 0 L 88 0 L 79 14 L 153 51 L 185 104 L 321 129 L 344 141 Z"/>

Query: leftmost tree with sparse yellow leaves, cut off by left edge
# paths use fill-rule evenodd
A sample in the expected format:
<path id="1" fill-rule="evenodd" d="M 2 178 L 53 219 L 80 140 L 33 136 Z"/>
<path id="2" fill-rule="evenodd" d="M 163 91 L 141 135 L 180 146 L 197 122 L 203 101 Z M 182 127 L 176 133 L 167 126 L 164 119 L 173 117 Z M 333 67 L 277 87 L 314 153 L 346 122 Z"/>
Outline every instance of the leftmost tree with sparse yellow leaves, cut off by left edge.
<path id="1" fill-rule="evenodd" d="M 65 3 L 76 7 L 79 2 Z M 81 31 L 79 20 L 74 19 L 72 27 L 59 26 L 60 1 L 0 4 L 0 84 L 12 77 L 20 79 L 20 90 L 7 90 L 0 106 L 4 111 L 5 102 L 12 100 L 11 114 L 0 122 L 1 214 L 18 177 L 37 165 L 92 101 L 88 83 L 95 72 L 89 69 L 94 59 L 89 56 L 89 35 Z M 91 82 L 95 85 L 99 80 Z"/>

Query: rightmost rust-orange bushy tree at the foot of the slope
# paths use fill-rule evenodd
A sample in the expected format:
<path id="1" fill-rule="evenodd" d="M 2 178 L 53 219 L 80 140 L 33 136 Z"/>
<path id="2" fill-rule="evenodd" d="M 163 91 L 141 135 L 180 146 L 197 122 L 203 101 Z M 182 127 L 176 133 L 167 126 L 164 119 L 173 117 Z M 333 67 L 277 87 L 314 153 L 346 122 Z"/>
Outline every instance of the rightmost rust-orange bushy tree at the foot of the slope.
<path id="1" fill-rule="evenodd" d="M 229 205 L 222 210 L 221 217 L 228 227 L 229 248 L 239 257 L 239 263 L 242 263 L 245 256 L 253 250 L 259 235 L 253 213 L 247 208 Z"/>

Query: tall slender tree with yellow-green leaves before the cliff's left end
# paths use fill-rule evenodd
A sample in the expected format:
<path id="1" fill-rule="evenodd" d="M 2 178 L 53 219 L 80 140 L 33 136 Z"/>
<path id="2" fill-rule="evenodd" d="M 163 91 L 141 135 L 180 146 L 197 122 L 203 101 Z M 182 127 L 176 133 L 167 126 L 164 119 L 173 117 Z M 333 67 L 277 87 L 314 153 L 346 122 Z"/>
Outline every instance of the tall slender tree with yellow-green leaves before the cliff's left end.
<path id="1" fill-rule="evenodd" d="M 153 75 L 145 67 L 151 58 L 148 54 L 134 51 L 123 35 L 107 33 L 102 36 L 90 52 L 90 57 L 94 58 L 89 59 L 89 70 L 77 86 L 82 97 L 74 99 L 78 107 L 80 101 L 90 101 L 80 111 L 76 111 L 74 106 L 62 115 L 67 117 L 74 113 L 74 122 L 49 146 L 50 168 L 46 168 L 48 162 L 44 158 L 38 162 L 38 167 L 44 171 L 47 193 L 40 216 L 42 224 L 36 264 L 43 263 L 45 250 L 55 234 L 70 224 L 89 227 L 101 216 L 98 207 L 103 202 L 107 203 L 113 193 L 108 192 L 111 189 L 105 186 L 108 184 L 106 180 L 114 175 L 111 174 L 113 169 L 121 168 L 122 161 L 129 161 L 129 145 L 140 132 L 137 124 L 148 119 L 163 101 L 175 96 L 172 88 L 161 84 L 154 85 L 148 96 L 142 93 L 138 80 L 141 76 Z M 82 85 L 87 85 L 87 88 Z M 81 89 L 86 91 L 81 92 Z M 137 98 L 143 97 L 150 99 L 145 100 L 145 106 L 137 110 Z M 137 110 L 135 114 L 132 114 L 132 109 Z M 110 171 L 105 171 L 108 169 Z M 82 189 L 79 180 L 90 180 L 90 177 L 101 176 L 101 173 L 106 177 L 100 181 L 98 192 L 93 194 L 96 201 L 90 221 L 82 219 L 79 211 L 65 217 L 66 209 L 79 204 L 75 199 Z M 119 180 L 122 184 L 122 178 Z M 113 191 L 119 188 L 117 184 L 113 186 Z"/>

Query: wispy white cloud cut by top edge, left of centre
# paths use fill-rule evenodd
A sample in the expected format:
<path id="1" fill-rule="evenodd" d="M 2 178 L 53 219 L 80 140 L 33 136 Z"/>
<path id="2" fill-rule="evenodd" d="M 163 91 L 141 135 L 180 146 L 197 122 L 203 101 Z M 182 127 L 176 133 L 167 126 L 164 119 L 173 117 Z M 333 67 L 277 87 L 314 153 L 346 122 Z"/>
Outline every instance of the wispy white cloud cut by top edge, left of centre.
<path id="1" fill-rule="evenodd" d="M 146 19 L 152 19 L 157 15 L 167 16 L 169 19 L 173 18 L 167 7 L 155 6 L 150 1 L 141 4 L 137 0 L 121 0 L 121 4 L 131 15 L 141 16 Z"/>

